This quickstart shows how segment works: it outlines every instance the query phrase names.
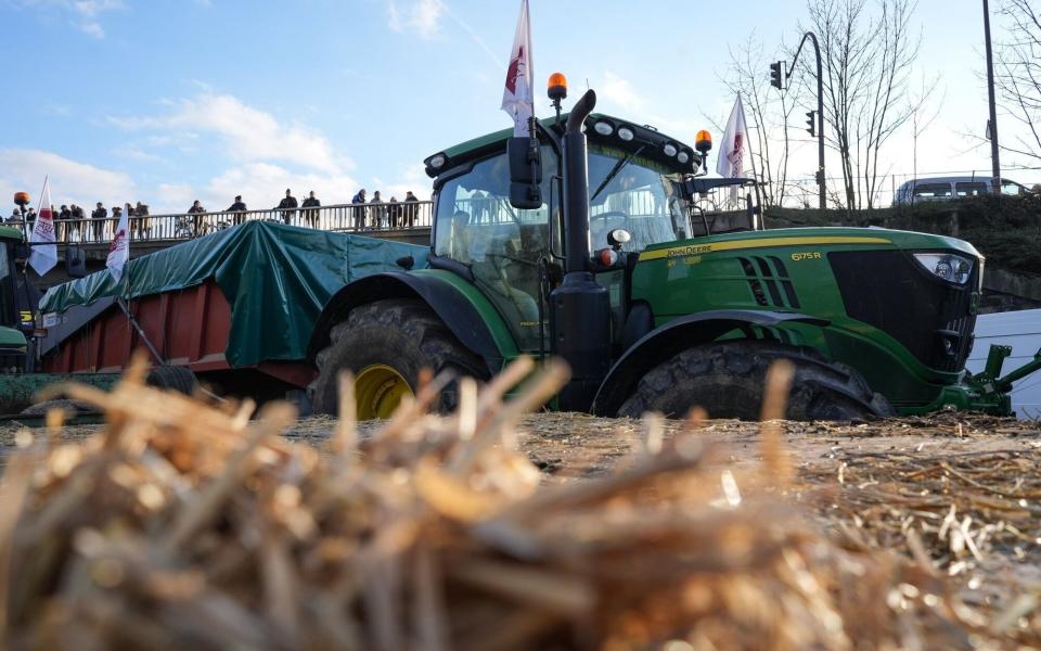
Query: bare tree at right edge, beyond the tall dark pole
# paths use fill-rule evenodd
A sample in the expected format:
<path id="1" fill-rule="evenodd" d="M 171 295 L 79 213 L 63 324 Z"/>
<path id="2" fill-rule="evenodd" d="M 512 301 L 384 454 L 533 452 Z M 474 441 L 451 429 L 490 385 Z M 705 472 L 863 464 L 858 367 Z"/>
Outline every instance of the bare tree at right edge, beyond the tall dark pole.
<path id="1" fill-rule="evenodd" d="M 1005 20 L 1006 38 L 997 43 L 994 86 L 1003 113 L 1023 127 L 999 144 L 1041 159 L 1041 16 L 1033 0 L 1005 0 L 998 13 Z"/>

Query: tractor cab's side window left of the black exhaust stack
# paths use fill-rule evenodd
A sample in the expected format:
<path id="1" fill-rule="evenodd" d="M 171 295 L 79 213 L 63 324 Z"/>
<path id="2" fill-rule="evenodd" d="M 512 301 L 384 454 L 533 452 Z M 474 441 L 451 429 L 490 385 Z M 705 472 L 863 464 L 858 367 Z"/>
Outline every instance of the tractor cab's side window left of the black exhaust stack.
<path id="1" fill-rule="evenodd" d="M 510 164 L 499 155 L 446 181 L 437 193 L 434 253 L 467 265 L 524 350 L 539 349 L 540 257 L 550 251 L 550 178 L 556 155 L 542 148 L 542 206 L 510 205 Z M 558 202 L 554 202 L 554 212 Z M 558 230 L 558 229 L 554 229 Z M 557 243 L 554 248 L 560 251 Z M 547 335 L 549 328 L 544 329 Z"/>

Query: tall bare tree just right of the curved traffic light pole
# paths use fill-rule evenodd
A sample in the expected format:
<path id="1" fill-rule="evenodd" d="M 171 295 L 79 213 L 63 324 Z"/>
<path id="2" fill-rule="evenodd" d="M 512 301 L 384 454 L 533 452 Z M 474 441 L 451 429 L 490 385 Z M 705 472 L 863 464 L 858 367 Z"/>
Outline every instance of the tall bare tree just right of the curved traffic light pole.
<path id="1" fill-rule="evenodd" d="M 914 0 L 809 0 L 809 28 L 821 43 L 828 145 L 838 152 L 844 202 L 874 207 L 882 150 L 920 108 L 908 86 L 921 38 L 912 31 Z M 800 67 L 807 78 L 815 71 Z"/>

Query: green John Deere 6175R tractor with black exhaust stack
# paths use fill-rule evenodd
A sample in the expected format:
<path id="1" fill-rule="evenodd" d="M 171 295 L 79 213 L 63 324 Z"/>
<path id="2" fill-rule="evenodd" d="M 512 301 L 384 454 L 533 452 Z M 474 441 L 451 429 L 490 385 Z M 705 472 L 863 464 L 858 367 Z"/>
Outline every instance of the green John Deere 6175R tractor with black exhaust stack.
<path id="1" fill-rule="evenodd" d="M 403 258 L 330 299 L 309 347 L 316 411 L 336 411 L 342 369 L 359 417 L 385 418 L 424 367 L 485 380 L 552 355 L 573 371 L 554 407 L 601 416 L 755 419 L 781 358 L 795 367 L 789 418 L 1004 414 L 1012 380 L 1041 368 L 1000 378 L 998 347 L 986 373 L 965 371 L 984 265 L 971 244 L 764 231 L 750 181 L 703 176 L 710 141 L 594 114 L 592 91 L 569 114 L 556 105 L 532 138 L 491 133 L 425 161 L 428 268 Z M 450 385 L 441 407 L 454 401 Z"/>

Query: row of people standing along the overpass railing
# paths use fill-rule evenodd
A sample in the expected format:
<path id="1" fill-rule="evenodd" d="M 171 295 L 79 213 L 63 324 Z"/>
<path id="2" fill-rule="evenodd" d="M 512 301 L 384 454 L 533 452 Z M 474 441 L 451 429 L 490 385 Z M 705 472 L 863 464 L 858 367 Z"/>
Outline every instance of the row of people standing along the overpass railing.
<path id="1" fill-rule="evenodd" d="M 327 218 L 323 224 L 319 210 L 322 203 L 314 195 L 313 190 L 308 193 L 303 202 L 297 202 L 292 190 L 286 189 L 285 196 L 272 210 L 275 212 L 283 224 L 314 229 L 388 230 L 413 228 L 420 221 L 420 200 L 411 190 L 406 193 L 401 201 L 398 201 L 397 196 L 384 201 L 378 190 L 373 192 L 372 197 L 369 199 L 364 188 L 362 188 L 355 194 L 350 203 L 349 224 L 340 224 L 338 219 L 334 218 Z M 153 224 L 149 206 L 142 202 L 125 205 L 130 237 L 136 240 L 153 237 L 155 239 L 194 238 L 215 230 L 239 226 L 246 219 L 246 213 L 249 212 L 242 195 L 236 195 L 235 201 L 227 209 L 216 213 L 207 210 L 198 200 L 195 200 L 185 210 L 184 216 L 170 216 L 170 220 L 167 220 L 168 224 L 160 226 Z M 51 206 L 55 237 L 62 242 L 106 242 L 112 239 L 124 212 L 125 208 L 121 206 L 113 206 L 110 212 L 102 202 L 98 202 L 89 215 L 82 206 L 76 204 L 63 204 L 60 207 Z M 262 212 L 259 218 L 266 218 Z M 31 231 L 36 219 L 35 207 L 25 212 L 24 219 L 22 210 L 14 208 L 5 222 L 9 226 L 21 228 L 24 221 L 26 230 Z"/>

